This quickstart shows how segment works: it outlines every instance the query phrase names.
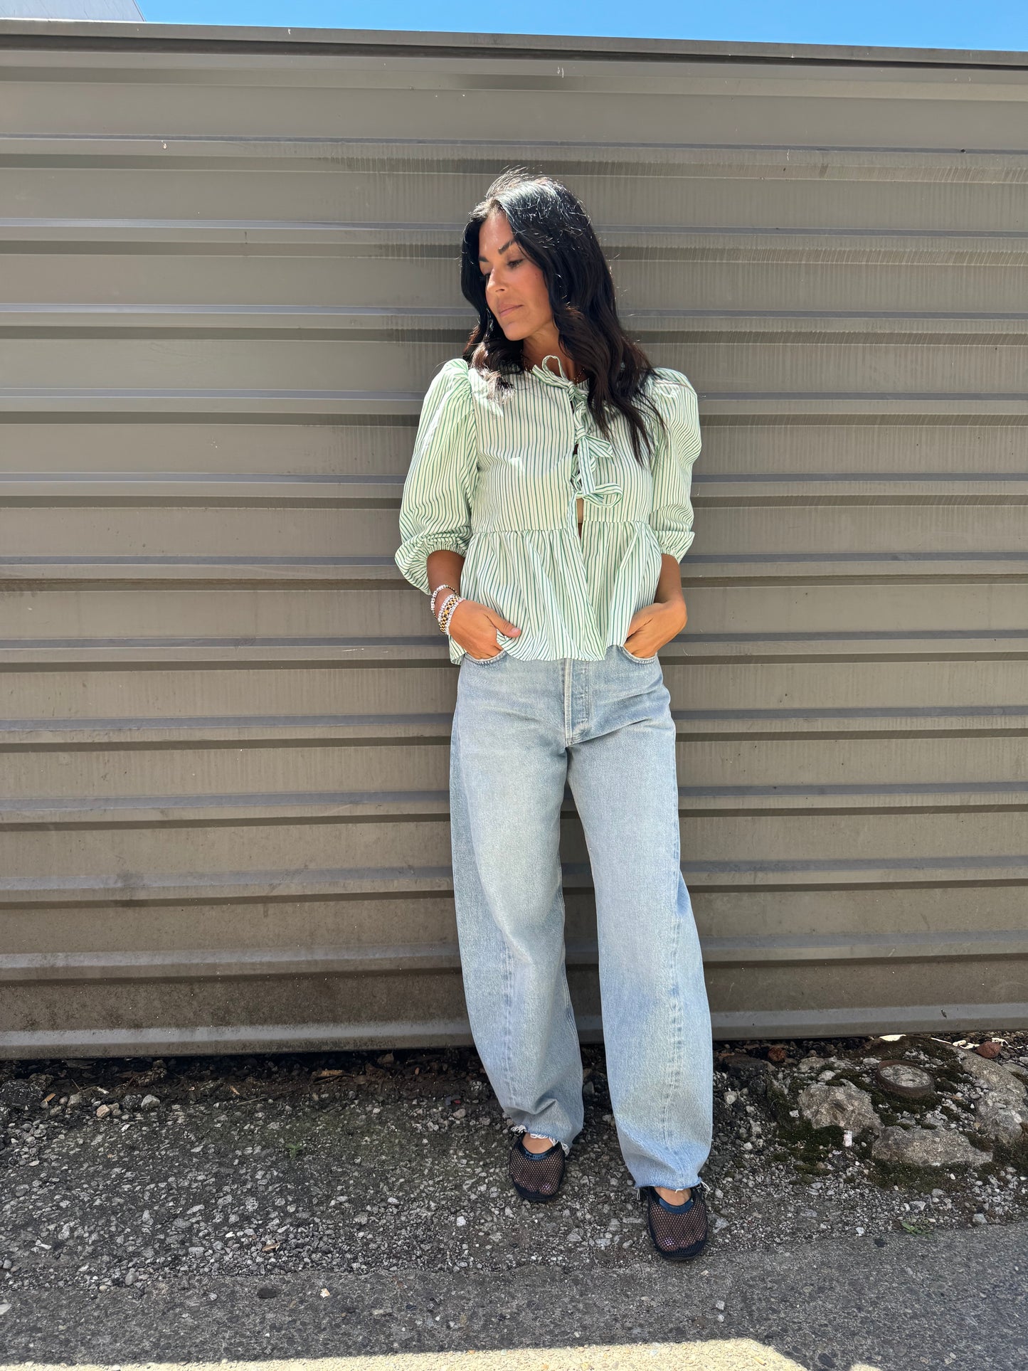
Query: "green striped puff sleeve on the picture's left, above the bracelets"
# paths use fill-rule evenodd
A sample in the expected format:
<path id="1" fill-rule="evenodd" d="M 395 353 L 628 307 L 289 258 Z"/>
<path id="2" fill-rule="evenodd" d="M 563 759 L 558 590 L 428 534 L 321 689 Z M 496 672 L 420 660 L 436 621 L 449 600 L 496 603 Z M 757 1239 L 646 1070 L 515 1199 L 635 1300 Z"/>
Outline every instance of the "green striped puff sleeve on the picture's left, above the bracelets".
<path id="1" fill-rule="evenodd" d="M 426 595 L 428 554 L 450 548 L 462 557 L 472 537 L 472 491 L 478 441 L 467 363 L 452 358 L 433 377 L 421 406 L 418 432 L 400 499 L 400 546 L 395 561 Z"/>

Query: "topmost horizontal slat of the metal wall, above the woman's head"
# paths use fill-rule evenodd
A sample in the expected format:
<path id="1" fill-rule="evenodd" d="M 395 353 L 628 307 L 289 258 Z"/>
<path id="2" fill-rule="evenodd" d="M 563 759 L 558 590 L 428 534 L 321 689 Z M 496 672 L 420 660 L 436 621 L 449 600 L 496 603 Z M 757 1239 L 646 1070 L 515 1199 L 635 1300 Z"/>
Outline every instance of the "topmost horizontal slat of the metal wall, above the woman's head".
<path id="1" fill-rule="evenodd" d="M 155 25 L 147 27 L 156 32 Z M 52 47 L 60 47 L 59 41 Z M 376 144 L 411 140 L 424 136 L 425 129 L 440 143 L 463 141 L 474 130 L 482 141 L 502 140 L 500 145 L 515 158 L 543 152 L 558 165 L 567 158 L 587 160 L 574 145 L 574 133 L 581 130 L 595 144 L 617 148 L 620 166 L 617 155 L 610 158 L 607 152 L 606 158 L 613 171 L 624 167 L 625 173 L 635 166 L 633 154 L 644 156 L 657 138 L 672 141 L 676 134 L 687 134 L 702 151 L 710 149 L 711 162 L 735 160 L 736 174 L 744 174 L 747 165 L 757 160 L 746 144 L 768 144 L 772 138 L 799 144 L 796 160 L 814 169 L 818 154 L 832 145 L 846 149 L 857 167 L 881 156 L 879 149 L 894 148 L 903 149 L 907 160 L 911 158 L 906 149 L 917 149 L 914 156 L 925 162 L 965 149 L 973 162 L 981 156 L 980 149 L 1017 145 L 1010 132 L 1024 108 L 1018 71 L 983 66 L 969 80 L 965 69 L 955 82 L 944 62 L 921 67 L 910 63 L 902 71 L 821 62 L 803 70 L 794 59 L 790 78 L 802 71 L 800 78 L 783 80 L 759 59 L 747 63 L 737 58 L 725 63 L 732 70 L 726 81 L 724 70 L 710 60 L 688 56 L 654 63 L 618 53 L 598 62 L 576 60 L 561 51 L 555 66 L 551 59 L 504 58 L 495 51 L 451 52 L 433 59 L 404 58 L 393 49 L 385 63 L 345 52 L 322 59 L 306 53 L 303 60 L 269 53 L 258 62 L 230 53 L 138 53 L 134 60 L 118 63 L 79 52 L 58 60 L 60 85 L 47 80 L 47 71 L 33 80 L 23 48 L 12 51 L 7 64 L 15 66 L 21 77 L 0 88 L 0 126 L 10 134 L 67 136 L 75 115 L 81 118 L 85 86 L 88 132 L 95 138 L 123 140 L 127 134 L 145 140 L 148 145 L 140 151 L 155 160 L 162 151 L 174 154 L 175 141 L 212 133 L 226 141 L 260 140 L 266 148 L 274 148 L 276 140 L 280 145 L 292 141 L 318 148 L 323 140 L 360 138 L 369 144 L 369 170 Z M 521 145 L 511 144 L 511 117 L 525 125 L 526 99 L 532 108 L 529 129 L 559 129 L 559 141 L 535 143 L 526 137 Z M 725 114 L 729 101 L 731 125 Z M 256 133 L 269 128 L 274 129 L 273 138 Z M 725 128 L 735 147 L 721 151 Z M 976 134 L 973 148 L 966 148 L 969 128 Z M 462 151 L 466 158 L 466 143 Z M 430 163 L 430 151 L 422 149 L 421 159 Z M 604 160 L 599 147 L 593 160 Z M 443 160 L 436 169 L 445 166 Z M 998 160 L 996 173 L 1002 170 L 1003 162 Z M 787 163 L 784 174 L 790 173 Z"/>

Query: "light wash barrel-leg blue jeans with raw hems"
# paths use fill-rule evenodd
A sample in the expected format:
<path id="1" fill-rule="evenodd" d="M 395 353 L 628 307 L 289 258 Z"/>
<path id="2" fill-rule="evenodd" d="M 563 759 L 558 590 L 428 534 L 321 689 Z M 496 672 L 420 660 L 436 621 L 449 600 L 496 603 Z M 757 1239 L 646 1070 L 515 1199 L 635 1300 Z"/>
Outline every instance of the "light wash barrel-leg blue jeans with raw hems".
<path id="1" fill-rule="evenodd" d="M 515 1128 L 581 1131 L 559 817 L 570 786 L 596 894 L 607 1082 L 636 1186 L 692 1187 L 713 1045 L 680 866 L 670 695 L 658 657 L 461 658 L 450 749 L 454 898 L 478 1056 Z"/>

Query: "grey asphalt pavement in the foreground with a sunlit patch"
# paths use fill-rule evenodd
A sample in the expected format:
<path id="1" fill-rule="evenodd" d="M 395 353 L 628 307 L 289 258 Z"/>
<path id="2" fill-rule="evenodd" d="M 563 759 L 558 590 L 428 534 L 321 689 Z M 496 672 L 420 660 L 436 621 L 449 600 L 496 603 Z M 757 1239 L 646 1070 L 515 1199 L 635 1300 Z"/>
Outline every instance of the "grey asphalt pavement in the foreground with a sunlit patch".
<path id="1" fill-rule="evenodd" d="M 345 1371 L 1024 1371 L 1028 1224 L 828 1238 L 607 1271 L 399 1270 L 11 1296 L 32 1364 Z"/>

